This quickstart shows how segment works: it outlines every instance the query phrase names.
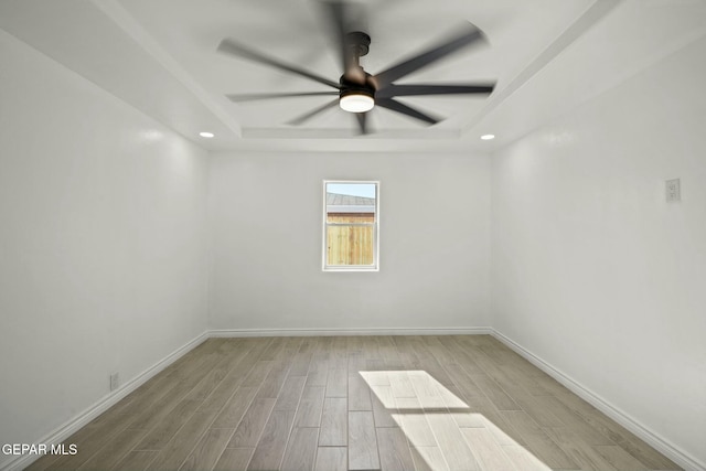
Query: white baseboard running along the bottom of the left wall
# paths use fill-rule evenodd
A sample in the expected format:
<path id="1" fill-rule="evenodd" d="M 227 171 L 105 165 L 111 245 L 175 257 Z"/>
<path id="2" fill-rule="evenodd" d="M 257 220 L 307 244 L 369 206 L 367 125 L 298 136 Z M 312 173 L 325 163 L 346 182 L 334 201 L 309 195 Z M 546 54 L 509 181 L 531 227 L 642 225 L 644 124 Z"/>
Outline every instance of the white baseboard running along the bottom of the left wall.
<path id="1" fill-rule="evenodd" d="M 34 441 L 34 443 L 61 443 L 71 437 L 73 433 L 78 431 L 82 427 L 87 425 L 89 421 L 98 417 L 100 414 L 108 410 L 110 407 L 115 406 L 120 399 L 122 399 L 128 394 L 132 393 L 135 389 L 147 383 L 150 378 L 157 375 L 159 372 L 164 370 L 167 366 L 174 363 L 176 360 L 195 349 L 202 342 L 206 341 L 210 338 L 208 331 L 205 331 L 197 338 L 186 342 L 184 345 L 176 349 L 174 352 L 167 355 L 164 358 L 157 362 L 154 365 L 150 366 L 129 382 L 125 383 L 118 389 L 114 390 L 109 395 L 103 397 L 93 406 L 88 407 L 84 411 L 79 413 L 76 417 L 66 421 L 62 426 L 57 427 L 52 432 L 47 433 L 45 437 L 40 440 Z M 24 469 L 30 465 L 32 462 L 41 458 L 36 454 L 24 454 L 21 457 L 17 457 L 14 460 L 10 460 L 6 464 L 3 464 L 0 470 L 1 471 L 15 471 Z"/>

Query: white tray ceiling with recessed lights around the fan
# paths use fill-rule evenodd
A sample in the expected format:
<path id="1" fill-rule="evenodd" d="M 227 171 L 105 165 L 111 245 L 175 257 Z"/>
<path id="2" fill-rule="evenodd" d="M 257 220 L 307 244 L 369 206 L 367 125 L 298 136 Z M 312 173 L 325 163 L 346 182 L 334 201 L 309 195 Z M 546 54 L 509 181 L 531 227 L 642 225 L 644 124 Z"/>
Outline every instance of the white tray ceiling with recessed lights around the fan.
<path id="1" fill-rule="evenodd" d="M 216 52 L 224 38 L 322 75 L 341 75 L 317 0 L 0 0 L 0 28 L 186 138 L 215 150 L 458 151 L 507 143 L 706 34 L 704 0 L 360 0 L 372 74 L 462 21 L 486 45 L 399 83 L 498 81 L 490 97 L 408 97 L 447 119 L 426 127 L 385 109 L 375 133 L 331 97 L 234 104 L 225 94 L 319 92 L 323 85 Z M 216 133 L 202 140 L 199 131 Z M 498 139 L 481 142 L 482 133 Z"/>

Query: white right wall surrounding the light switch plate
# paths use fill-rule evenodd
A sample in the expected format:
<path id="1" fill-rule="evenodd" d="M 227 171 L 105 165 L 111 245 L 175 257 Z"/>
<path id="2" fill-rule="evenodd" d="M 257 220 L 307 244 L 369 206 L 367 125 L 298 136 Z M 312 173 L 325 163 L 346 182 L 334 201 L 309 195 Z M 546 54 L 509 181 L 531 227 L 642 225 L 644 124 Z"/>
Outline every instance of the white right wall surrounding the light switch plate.
<path id="1" fill-rule="evenodd" d="M 493 156 L 493 327 L 706 463 L 706 40 Z M 680 178 L 681 203 L 664 181 Z"/>

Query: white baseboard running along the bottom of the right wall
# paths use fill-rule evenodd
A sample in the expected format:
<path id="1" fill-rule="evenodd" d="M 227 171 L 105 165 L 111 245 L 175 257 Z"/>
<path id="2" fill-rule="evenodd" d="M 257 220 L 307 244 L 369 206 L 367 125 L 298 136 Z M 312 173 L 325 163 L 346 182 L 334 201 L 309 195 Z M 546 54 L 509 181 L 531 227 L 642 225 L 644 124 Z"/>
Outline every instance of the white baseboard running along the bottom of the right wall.
<path id="1" fill-rule="evenodd" d="M 552 376 L 554 379 L 561 383 L 574 394 L 589 403 L 591 406 L 596 407 L 601 413 L 606 414 L 608 417 L 633 432 L 640 439 L 649 443 L 652 448 L 674 461 L 676 464 L 681 465 L 685 470 L 688 471 L 703 471 L 706 470 L 706 463 L 700 462 L 696 458 L 689 456 L 684 450 L 676 447 L 674 443 L 665 440 L 660 437 L 654 431 L 650 430 L 648 427 L 640 424 L 640 421 L 635 420 L 630 415 L 614 407 L 606 399 L 600 397 L 598 394 L 593 393 L 576 379 L 571 378 L 569 375 L 565 374 L 560 370 L 552 366 L 549 363 L 545 362 L 534 353 L 526 350 L 524 346 L 520 345 L 512 339 L 507 338 L 503 333 L 492 330 L 492 335 L 507 345 L 510 349 L 515 351 L 517 354 L 523 356 L 530 363 Z"/>

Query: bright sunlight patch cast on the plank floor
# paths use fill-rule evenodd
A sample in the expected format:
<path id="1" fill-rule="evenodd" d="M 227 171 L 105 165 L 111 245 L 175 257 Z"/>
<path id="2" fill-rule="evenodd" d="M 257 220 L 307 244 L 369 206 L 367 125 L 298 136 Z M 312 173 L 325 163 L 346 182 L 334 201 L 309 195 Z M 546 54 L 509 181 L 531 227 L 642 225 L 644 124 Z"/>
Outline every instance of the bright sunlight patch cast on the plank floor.
<path id="1" fill-rule="evenodd" d="M 417 469 L 550 469 L 426 371 L 360 374 L 377 402 L 373 408 L 376 424 L 392 419 L 402 429 Z"/>

